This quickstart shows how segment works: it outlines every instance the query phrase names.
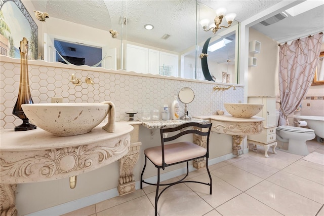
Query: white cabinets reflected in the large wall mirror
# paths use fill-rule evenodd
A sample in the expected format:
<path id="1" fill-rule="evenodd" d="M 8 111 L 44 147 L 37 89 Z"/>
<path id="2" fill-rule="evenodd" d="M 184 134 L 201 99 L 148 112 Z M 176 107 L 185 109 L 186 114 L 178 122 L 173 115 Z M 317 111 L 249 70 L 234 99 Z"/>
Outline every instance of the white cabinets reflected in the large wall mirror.
<path id="1" fill-rule="evenodd" d="M 126 70 L 178 77 L 179 57 L 176 54 L 127 44 L 126 59 Z"/>

